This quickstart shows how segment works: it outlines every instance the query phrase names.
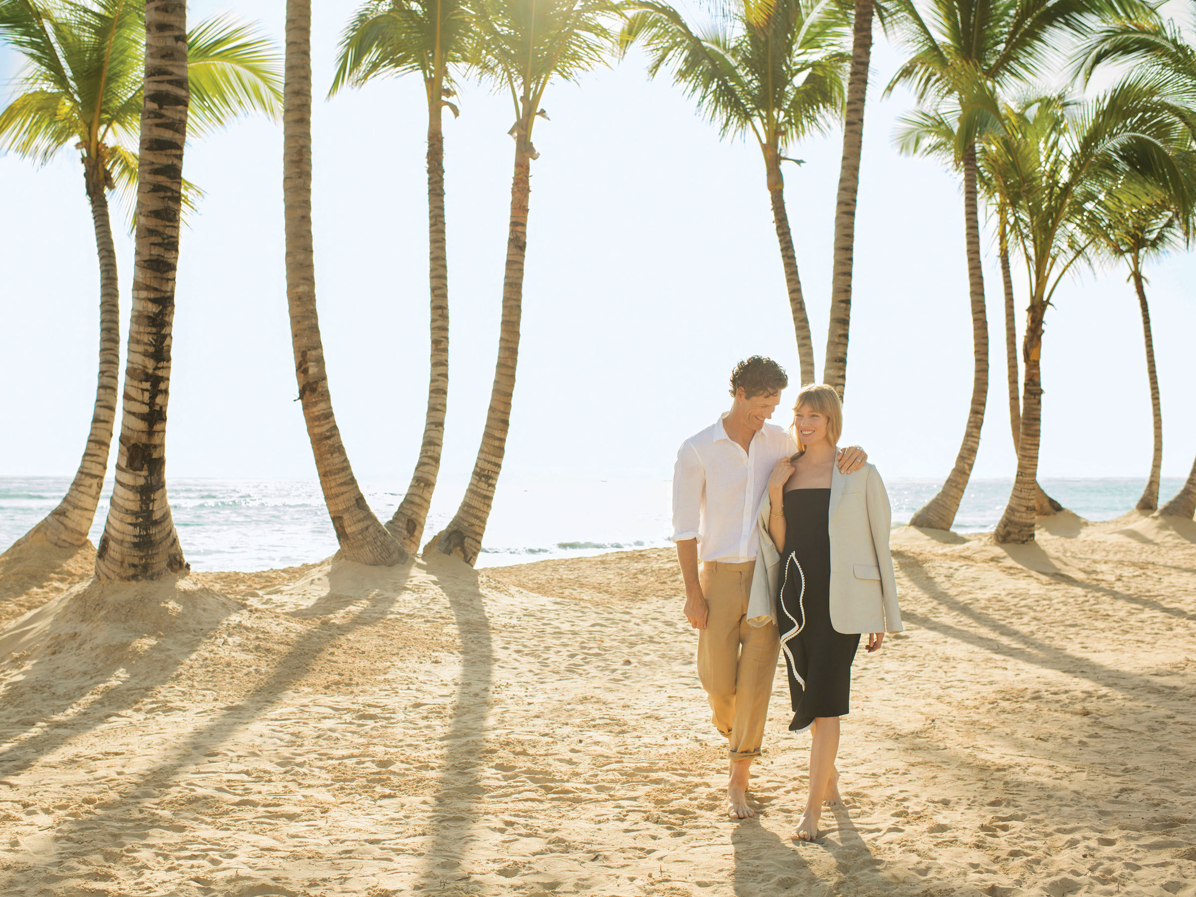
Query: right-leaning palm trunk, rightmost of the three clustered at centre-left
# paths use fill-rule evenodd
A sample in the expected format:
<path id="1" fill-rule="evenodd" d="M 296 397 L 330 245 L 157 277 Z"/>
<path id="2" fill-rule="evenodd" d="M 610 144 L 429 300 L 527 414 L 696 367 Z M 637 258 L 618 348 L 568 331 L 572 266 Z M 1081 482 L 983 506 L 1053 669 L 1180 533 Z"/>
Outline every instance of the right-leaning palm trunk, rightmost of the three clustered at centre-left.
<path id="1" fill-rule="evenodd" d="M 507 264 L 502 282 L 502 321 L 499 324 L 499 360 L 494 368 L 490 407 L 486 413 L 486 429 L 477 451 L 474 474 L 465 498 L 448 525 L 433 536 L 423 553 L 433 548 L 460 557 L 472 566 L 482 550 L 482 536 L 494 504 L 494 488 L 502 470 L 502 456 L 511 427 L 511 397 L 515 388 L 515 365 L 519 360 L 519 321 L 523 313 L 524 258 L 527 254 L 527 200 L 531 193 L 531 154 L 527 139 L 533 108 L 524 100 L 525 109 L 515 128 L 514 177 L 511 182 L 511 224 L 507 232 Z"/>

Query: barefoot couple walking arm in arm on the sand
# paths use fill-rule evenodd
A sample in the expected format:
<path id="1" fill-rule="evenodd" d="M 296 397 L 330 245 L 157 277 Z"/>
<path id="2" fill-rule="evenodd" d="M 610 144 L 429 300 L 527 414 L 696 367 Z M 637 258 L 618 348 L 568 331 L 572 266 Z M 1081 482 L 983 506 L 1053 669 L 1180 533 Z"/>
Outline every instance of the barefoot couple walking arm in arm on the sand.
<path id="1" fill-rule="evenodd" d="M 838 718 L 860 635 L 875 652 L 902 624 L 880 475 L 859 446 L 838 448 L 843 413 L 830 386 L 801 388 L 788 431 L 769 423 L 788 384 L 771 359 L 736 366 L 731 410 L 677 453 L 672 539 L 698 678 L 730 742 L 727 812 L 753 814 L 749 774 L 783 651 L 789 730 L 812 733 L 793 837 L 813 841 L 822 807 L 840 800 Z"/>

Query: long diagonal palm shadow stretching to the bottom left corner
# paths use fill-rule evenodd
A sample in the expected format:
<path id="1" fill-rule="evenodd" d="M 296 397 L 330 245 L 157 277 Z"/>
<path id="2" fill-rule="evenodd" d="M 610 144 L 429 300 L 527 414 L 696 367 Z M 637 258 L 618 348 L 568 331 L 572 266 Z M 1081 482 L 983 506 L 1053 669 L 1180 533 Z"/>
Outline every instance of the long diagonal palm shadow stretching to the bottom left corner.
<path id="1" fill-rule="evenodd" d="M 384 578 L 385 591 L 379 593 L 378 590 L 371 590 L 365 606 L 352 617 L 330 621 L 306 630 L 275 664 L 274 672 L 268 678 L 237 703 L 222 708 L 214 719 L 196 728 L 185 742 L 175 746 L 170 751 L 171 759 L 154 765 L 140 776 L 130 776 L 94 812 L 85 813 L 80 818 L 67 818 L 59 823 L 54 830 L 53 848 L 43 850 L 37 856 L 35 875 L 51 873 L 65 864 L 72 862 L 74 860 L 72 849 L 77 844 L 81 844 L 83 850 L 94 850 L 96 831 L 104 831 L 105 838 L 109 841 L 123 838 L 127 842 L 138 842 L 145 840 L 150 829 L 160 824 L 160 820 L 153 818 L 153 813 L 142 813 L 142 810 L 152 808 L 158 800 L 157 797 L 150 795 L 177 781 L 189 769 L 203 762 L 199 759 L 202 755 L 226 743 L 238 730 L 244 728 L 270 709 L 283 692 L 303 679 L 321 654 L 337 641 L 350 636 L 362 627 L 384 620 L 393 609 L 398 593 L 410 575 L 410 566 L 379 568 L 370 573 L 371 568 L 334 560 L 328 576 L 329 593 L 338 593 L 337 584 L 342 576 L 355 581 L 360 579 L 362 570 L 366 570 L 366 575 Z M 132 679 L 129 684 L 134 685 Z M 139 688 L 138 695 L 140 696 L 144 691 L 144 688 Z M 105 697 L 99 698 L 93 704 L 98 706 L 97 719 L 106 719 L 112 713 Z M 127 703 L 128 700 L 124 698 L 123 703 Z M 5 773 L 12 775 L 7 769 Z M 136 797 L 136 793 L 142 789 L 146 789 L 147 797 Z M 29 868 L 10 864 L 8 869 L 6 869 L 7 874 L 0 878 L 0 893 L 17 892 L 18 877 L 24 872 L 29 872 Z"/>

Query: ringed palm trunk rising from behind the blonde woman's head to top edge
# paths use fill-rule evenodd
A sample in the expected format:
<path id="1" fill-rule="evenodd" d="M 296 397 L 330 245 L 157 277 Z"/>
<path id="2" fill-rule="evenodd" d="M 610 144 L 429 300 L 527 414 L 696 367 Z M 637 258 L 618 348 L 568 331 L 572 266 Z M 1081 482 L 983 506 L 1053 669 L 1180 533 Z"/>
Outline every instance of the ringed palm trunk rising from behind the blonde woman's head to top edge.
<path id="1" fill-rule="evenodd" d="M 847 383 L 847 338 L 852 323 L 852 266 L 855 252 L 855 201 L 860 191 L 860 153 L 864 148 L 864 103 L 872 60 L 873 0 L 855 0 L 852 35 L 852 68 L 843 106 L 843 157 L 838 169 L 835 203 L 835 261 L 830 285 L 830 323 L 823 383 L 840 398 Z"/>

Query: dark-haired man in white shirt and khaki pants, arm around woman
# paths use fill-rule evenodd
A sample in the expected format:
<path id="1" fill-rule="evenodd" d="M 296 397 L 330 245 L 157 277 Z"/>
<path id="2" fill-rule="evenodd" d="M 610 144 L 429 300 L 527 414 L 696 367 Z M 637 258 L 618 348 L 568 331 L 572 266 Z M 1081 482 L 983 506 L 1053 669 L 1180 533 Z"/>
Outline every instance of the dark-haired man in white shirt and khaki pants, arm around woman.
<path id="1" fill-rule="evenodd" d="M 756 512 L 773 466 L 798 451 L 785 428 L 768 422 L 788 385 L 785 368 L 771 359 L 740 361 L 731 372 L 731 410 L 682 444 L 673 470 L 672 539 L 685 580 L 685 618 L 698 630 L 697 675 L 712 722 L 730 743 L 727 813 L 737 819 L 755 814 L 748 779 L 759 756 L 780 649 L 775 624 L 748 624 L 748 598 Z M 859 446 L 841 450 L 838 469 L 850 474 L 866 459 Z"/>

